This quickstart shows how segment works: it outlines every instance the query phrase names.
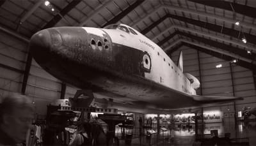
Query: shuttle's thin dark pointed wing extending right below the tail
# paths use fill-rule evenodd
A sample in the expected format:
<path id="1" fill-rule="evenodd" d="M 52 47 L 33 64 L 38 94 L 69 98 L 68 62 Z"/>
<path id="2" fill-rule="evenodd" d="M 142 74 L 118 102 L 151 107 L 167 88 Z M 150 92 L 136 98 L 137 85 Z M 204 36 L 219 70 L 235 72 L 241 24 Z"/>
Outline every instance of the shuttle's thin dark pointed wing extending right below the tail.
<path id="1" fill-rule="evenodd" d="M 195 101 L 200 103 L 215 103 L 215 102 L 230 102 L 234 100 L 243 100 L 243 98 L 230 97 L 230 96 L 192 96 Z"/>

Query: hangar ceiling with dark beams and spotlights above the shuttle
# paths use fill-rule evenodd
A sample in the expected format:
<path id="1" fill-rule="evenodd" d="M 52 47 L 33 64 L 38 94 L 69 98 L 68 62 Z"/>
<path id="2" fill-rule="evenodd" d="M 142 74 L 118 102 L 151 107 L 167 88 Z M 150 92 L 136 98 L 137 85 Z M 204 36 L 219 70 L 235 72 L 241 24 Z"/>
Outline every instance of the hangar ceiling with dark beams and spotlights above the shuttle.
<path id="1" fill-rule="evenodd" d="M 169 56 L 189 46 L 255 70 L 255 11 L 255 0 L 0 0 L 0 26 L 29 40 L 48 27 L 124 23 Z"/>

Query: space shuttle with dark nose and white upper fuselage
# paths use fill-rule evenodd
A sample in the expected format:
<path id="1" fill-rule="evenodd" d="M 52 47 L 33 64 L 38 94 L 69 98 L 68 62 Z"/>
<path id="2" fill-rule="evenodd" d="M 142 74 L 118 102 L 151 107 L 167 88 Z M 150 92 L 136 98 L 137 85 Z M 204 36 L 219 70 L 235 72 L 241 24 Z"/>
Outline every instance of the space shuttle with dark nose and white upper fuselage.
<path id="1" fill-rule="evenodd" d="M 175 64 L 161 47 L 125 24 L 44 29 L 31 37 L 29 49 L 52 76 L 117 103 L 179 110 L 241 99 L 196 95 L 200 82 L 183 73 L 182 52 Z"/>

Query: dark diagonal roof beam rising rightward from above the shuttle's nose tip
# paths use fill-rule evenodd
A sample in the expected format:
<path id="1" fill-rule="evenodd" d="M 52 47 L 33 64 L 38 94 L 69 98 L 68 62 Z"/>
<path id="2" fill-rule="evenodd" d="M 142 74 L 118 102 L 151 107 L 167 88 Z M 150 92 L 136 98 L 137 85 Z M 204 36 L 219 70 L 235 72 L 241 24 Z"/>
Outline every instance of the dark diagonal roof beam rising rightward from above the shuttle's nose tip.
<path id="1" fill-rule="evenodd" d="M 45 24 L 43 29 L 47 29 L 49 27 L 53 27 L 55 26 L 61 19 L 63 16 L 67 15 L 67 13 L 72 10 L 73 8 L 75 8 L 77 6 L 77 4 L 79 4 L 81 1 L 83 0 L 73 0 L 71 3 L 69 3 L 67 6 L 65 6 L 65 8 L 63 8 L 63 10 L 60 11 L 60 14 L 55 15 L 52 20 L 50 20 L 47 24 Z"/>

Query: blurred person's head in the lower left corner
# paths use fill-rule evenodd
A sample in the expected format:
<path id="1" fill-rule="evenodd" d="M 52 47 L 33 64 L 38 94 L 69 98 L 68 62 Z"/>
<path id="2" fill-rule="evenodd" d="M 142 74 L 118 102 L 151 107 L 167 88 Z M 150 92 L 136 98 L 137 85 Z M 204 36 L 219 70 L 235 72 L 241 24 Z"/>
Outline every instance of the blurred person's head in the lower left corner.
<path id="1" fill-rule="evenodd" d="M 26 142 L 34 106 L 27 96 L 12 93 L 0 102 L 0 145 Z"/>

